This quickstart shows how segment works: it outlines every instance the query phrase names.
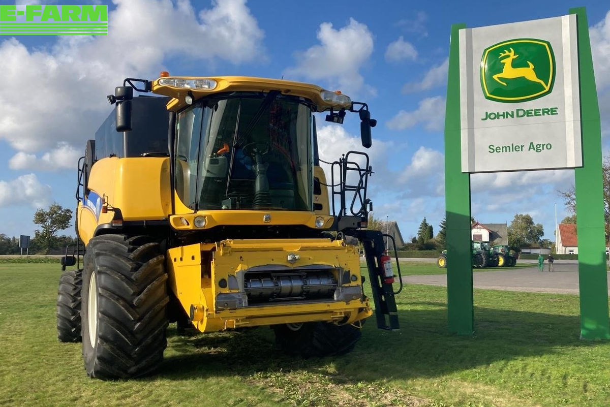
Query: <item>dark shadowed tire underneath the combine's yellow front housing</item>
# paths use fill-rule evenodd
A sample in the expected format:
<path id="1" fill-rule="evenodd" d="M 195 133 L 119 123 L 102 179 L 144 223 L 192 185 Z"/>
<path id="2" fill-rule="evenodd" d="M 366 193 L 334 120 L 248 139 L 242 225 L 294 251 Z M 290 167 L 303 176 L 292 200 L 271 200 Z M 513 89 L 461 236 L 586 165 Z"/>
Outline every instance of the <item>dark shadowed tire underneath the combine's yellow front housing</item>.
<path id="1" fill-rule="evenodd" d="M 363 321 L 364 322 L 364 321 Z M 273 325 L 276 344 L 288 355 L 309 358 L 345 355 L 351 352 L 362 336 L 354 325 L 331 322 Z"/>

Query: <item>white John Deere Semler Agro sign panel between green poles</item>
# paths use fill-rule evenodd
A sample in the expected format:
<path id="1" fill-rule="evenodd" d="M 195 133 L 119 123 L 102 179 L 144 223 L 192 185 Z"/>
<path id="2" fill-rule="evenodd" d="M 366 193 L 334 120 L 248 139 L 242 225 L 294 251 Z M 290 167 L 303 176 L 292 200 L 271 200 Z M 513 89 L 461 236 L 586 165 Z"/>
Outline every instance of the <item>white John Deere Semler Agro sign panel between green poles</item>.
<path id="1" fill-rule="evenodd" d="M 575 16 L 462 29 L 462 172 L 582 166 Z"/>

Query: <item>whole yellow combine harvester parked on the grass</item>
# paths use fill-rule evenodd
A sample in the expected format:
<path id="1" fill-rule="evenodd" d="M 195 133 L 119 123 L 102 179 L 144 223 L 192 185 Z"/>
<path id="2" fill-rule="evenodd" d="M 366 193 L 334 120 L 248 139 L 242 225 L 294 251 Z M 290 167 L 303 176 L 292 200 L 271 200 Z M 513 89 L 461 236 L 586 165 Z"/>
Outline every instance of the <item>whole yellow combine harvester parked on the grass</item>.
<path id="1" fill-rule="evenodd" d="M 115 111 L 79 161 L 83 268 L 64 272 L 57 300 L 59 339 L 82 339 L 90 377 L 159 367 L 169 322 L 269 325 L 285 352 L 349 352 L 373 311 L 347 236 L 364 247 L 378 327 L 398 328 L 384 235 L 362 229 L 368 156 L 332 163 L 332 203 L 318 158 L 314 113 L 358 113 L 370 147 L 366 104 L 306 83 L 167 73 L 108 99 Z"/>

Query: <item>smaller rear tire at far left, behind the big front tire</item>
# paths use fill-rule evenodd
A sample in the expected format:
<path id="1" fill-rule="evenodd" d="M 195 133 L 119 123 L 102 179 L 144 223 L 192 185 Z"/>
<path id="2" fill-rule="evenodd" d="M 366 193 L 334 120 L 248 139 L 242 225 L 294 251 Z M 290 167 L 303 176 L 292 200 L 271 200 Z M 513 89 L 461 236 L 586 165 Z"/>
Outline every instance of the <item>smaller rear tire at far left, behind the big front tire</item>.
<path id="1" fill-rule="evenodd" d="M 57 338 L 81 342 L 82 269 L 68 270 L 59 277 L 57 289 Z"/>

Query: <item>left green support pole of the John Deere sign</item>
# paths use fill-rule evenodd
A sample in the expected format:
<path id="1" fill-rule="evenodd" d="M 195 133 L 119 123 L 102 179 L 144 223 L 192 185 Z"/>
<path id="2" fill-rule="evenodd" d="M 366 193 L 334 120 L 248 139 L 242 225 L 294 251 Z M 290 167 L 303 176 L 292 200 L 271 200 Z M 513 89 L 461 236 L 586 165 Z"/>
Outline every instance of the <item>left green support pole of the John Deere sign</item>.
<path id="1" fill-rule="evenodd" d="M 445 208 L 447 210 L 447 311 L 449 331 L 472 335 L 472 250 L 470 248 L 470 174 L 462 172 L 459 89 L 459 34 L 451 26 L 447 107 L 445 110 Z"/>

